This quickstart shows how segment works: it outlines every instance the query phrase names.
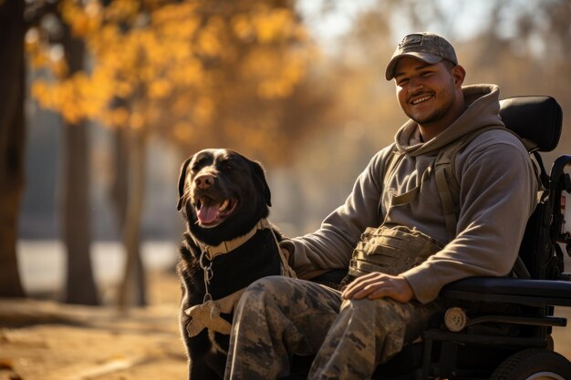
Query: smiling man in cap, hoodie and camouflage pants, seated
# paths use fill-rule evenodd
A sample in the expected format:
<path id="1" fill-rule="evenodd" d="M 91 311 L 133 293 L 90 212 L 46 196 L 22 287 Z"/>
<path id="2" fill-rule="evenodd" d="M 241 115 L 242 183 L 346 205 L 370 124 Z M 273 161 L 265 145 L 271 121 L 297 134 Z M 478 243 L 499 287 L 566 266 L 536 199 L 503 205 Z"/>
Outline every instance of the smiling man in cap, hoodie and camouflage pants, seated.
<path id="1" fill-rule="evenodd" d="M 394 144 L 371 159 L 345 204 L 318 231 L 283 247 L 301 278 L 365 268 L 354 249 L 379 226 L 390 233 L 405 229 L 410 240 L 420 234 L 437 248 L 420 261 L 405 249 L 401 254 L 415 266 L 389 274 L 390 263 L 373 265 L 381 269 L 358 273 L 342 293 L 285 277 L 254 282 L 234 314 L 226 379 L 286 376 L 293 354 L 316 354 L 309 379 L 367 379 L 441 313 L 443 285 L 511 271 L 537 185 L 524 146 L 498 115 L 499 88 L 462 87 L 465 71 L 453 47 L 429 33 L 404 37 L 386 77 L 394 78 L 410 120 Z M 433 167 L 439 152 L 469 135 L 452 162 L 458 212 L 451 236 Z"/>

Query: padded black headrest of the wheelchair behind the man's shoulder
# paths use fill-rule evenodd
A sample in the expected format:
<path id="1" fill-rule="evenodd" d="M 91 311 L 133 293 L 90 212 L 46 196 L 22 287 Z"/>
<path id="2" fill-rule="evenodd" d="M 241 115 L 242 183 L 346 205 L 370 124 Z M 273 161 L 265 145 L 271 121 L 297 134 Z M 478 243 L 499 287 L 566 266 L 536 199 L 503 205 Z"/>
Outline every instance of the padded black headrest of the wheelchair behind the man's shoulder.
<path id="1" fill-rule="evenodd" d="M 561 137 L 563 112 L 555 98 L 514 97 L 500 100 L 500 116 L 505 127 L 523 139 L 535 142 L 537 149 L 548 152 Z"/>

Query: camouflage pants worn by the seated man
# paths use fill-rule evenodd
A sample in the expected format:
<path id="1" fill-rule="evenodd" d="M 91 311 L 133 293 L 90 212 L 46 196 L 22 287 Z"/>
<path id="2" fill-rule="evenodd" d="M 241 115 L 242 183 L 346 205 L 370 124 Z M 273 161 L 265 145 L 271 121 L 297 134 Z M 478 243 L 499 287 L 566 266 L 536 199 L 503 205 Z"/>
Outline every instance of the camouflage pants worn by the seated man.
<path id="1" fill-rule="evenodd" d="M 343 300 L 314 282 L 265 277 L 234 311 L 224 379 L 279 379 L 293 354 L 316 354 L 310 380 L 369 379 L 440 311 L 438 303 Z"/>

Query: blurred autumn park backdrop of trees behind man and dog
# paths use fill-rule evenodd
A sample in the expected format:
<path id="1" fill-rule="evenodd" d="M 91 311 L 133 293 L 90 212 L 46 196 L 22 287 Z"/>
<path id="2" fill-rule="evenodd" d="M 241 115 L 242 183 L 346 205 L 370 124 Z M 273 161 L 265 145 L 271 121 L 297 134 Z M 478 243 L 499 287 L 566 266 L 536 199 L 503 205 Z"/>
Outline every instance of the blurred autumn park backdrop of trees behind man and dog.
<path id="1" fill-rule="evenodd" d="M 466 84 L 565 116 L 570 19 L 569 0 L 0 0 L 0 295 L 148 303 L 199 149 L 259 160 L 270 220 L 314 231 L 406 119 L 384 69 L 411 32 L 447 37 Z"/>

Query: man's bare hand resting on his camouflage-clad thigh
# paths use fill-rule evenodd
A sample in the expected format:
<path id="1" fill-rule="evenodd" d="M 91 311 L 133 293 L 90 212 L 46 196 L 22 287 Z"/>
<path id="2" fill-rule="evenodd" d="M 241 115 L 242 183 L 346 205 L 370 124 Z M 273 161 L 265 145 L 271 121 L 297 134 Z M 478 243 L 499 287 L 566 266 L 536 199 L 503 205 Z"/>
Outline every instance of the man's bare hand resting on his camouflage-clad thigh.
<path id="1" fill-rule="evenodd" d="M 349 283 L 343 292 L 343 298 L 346 300 L 360 300 L 365 297 L 370 300 L 389 297 L 400 303 L 408 303 L 414 298 L 414 292 L 402 276 L 372 272 Z"/>

